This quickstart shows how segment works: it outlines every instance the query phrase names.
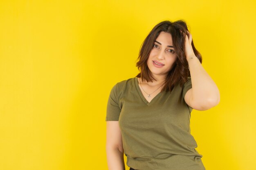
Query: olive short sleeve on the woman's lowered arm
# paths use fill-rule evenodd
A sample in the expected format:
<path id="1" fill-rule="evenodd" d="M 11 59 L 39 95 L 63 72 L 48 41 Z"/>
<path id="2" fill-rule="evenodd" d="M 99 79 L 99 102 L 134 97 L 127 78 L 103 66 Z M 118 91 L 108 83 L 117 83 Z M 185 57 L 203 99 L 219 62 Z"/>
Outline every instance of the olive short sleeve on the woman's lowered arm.
<path id="1" fill-rule="evenodd" d="M 108 97 L 106 121 L 118 121 L 121 109 L 119 107 L 119 100 L 117 98 L 117 85 L 112 87 Z"/>

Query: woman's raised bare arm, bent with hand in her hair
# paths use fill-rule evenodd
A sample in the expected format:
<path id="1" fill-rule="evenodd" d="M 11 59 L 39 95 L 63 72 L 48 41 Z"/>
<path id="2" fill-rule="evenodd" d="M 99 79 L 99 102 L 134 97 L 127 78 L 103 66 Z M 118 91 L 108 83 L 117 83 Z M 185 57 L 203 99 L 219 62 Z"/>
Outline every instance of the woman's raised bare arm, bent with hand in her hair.
<path id="1" fill-rule="evenodd" d="M 220 92 L 213 79 L 207 74 L 191 46 L 192 35 L 187 31 L 185 38 L 185 55 L 189 63 L 192 89 L 186 92 L 185 102 L 195 110 L 207 110 L 218 105 Z"/>

